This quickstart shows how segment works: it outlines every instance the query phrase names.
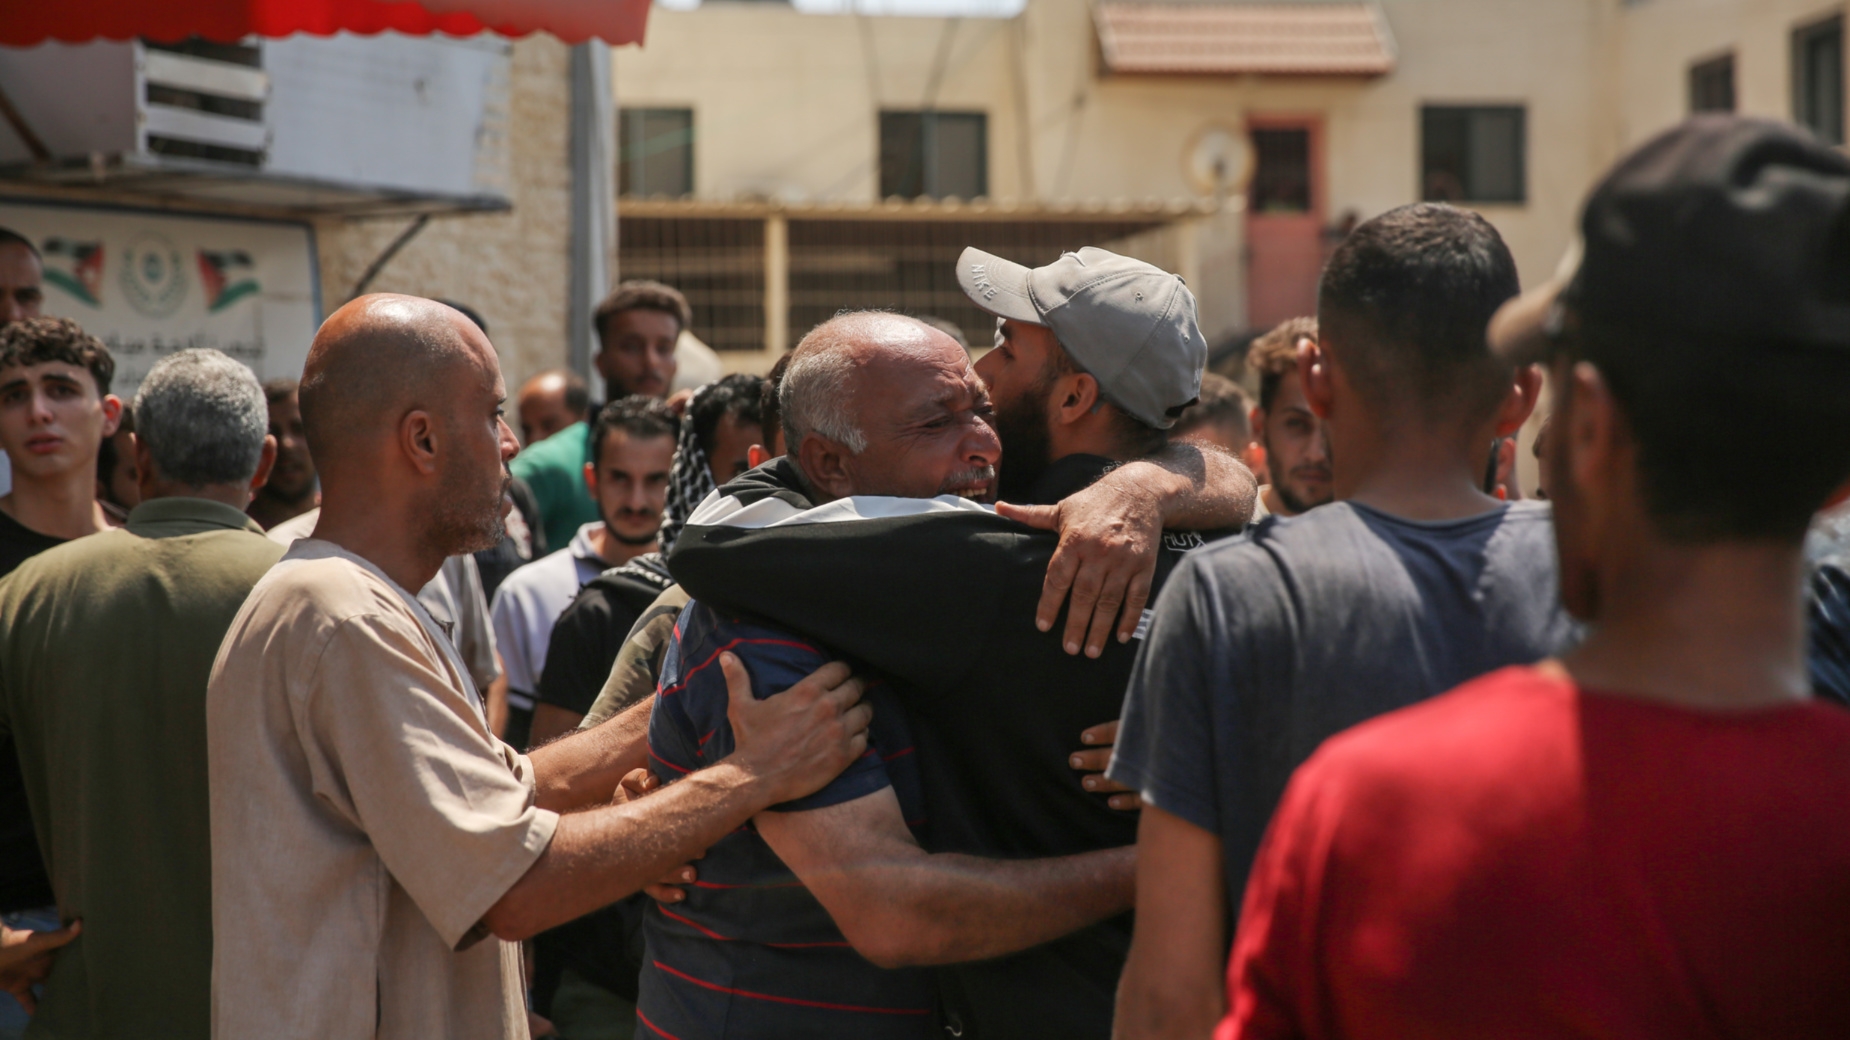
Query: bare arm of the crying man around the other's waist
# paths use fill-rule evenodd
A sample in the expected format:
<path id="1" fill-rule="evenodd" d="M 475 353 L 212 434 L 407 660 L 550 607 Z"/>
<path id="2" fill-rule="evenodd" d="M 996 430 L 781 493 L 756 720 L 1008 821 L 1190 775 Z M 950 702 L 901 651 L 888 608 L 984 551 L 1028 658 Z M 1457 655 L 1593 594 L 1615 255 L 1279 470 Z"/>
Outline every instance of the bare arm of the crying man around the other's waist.
<path id="1" fill-rule="evenodd" d="M 882 968 L 1001 957 L 1130 909 L 1132 848 L 1030 860 L 931 855 L 890 786 L 755 822 L 847 942 Z"/>

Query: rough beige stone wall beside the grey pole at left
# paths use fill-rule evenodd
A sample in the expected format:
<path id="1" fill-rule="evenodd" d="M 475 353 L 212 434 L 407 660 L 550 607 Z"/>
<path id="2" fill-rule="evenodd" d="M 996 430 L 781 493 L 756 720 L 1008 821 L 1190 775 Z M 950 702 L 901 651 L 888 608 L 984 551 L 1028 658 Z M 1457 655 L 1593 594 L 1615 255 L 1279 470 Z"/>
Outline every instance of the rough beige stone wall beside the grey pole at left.
<path id="1" fill-rule="evenodd" d="M 437 217 L 374 279 L 376 292 L 446 296 L 475 307 L 509 387 L 564 365 L 572 170 L 568 48 L 549 35 L 512 44 L 509 198 L 492 215 Z M 320 220 L 322 303 L 346 302 L 407 218 Z"/>

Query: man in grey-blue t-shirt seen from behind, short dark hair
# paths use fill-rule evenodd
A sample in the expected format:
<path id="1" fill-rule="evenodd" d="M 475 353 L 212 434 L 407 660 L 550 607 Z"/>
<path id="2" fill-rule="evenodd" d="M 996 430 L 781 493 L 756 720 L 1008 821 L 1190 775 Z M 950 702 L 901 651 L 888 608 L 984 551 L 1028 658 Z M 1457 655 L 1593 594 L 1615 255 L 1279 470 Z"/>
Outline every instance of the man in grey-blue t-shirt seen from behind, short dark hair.
<path id="1" fill-rule="evenodd" d="M 1548 509 L 1482 487 L 1539 389 L 1486 342 L 1515 292 L 1497 229 L 1449 205 L 1384 213 L 1330 257 L 1299 383 L 1338 501 L 1191 553 L 1130 675 L 1108 775 L 1147 807 L 1116 1036 L 1214 1031 L 1247 870 L 1325 738 L 1572 638 Z"/>

